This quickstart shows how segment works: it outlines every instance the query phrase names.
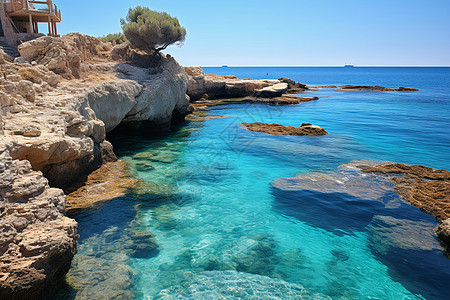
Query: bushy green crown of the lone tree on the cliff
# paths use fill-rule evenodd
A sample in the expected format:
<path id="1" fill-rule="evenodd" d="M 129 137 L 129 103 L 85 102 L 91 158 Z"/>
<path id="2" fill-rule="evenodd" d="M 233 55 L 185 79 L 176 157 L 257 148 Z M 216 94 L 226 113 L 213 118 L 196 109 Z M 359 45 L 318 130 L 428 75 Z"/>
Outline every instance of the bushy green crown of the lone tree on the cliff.
<path id="1" fill-rule="evenodd" d="M 147 7 L 130 8 L 126 20 L 120 22 L 130 44 L 146 52 L 158 53 L 169 45 L 182 45 L 186 38 L 186 29 L 177 18 Z"/>

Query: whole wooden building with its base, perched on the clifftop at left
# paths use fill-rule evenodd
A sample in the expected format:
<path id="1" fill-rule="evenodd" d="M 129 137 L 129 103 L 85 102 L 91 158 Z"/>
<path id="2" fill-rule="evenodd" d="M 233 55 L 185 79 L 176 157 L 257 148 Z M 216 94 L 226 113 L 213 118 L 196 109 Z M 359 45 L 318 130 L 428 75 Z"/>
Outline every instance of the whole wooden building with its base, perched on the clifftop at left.
<path id="1" fill-rule="evenodd" d="M 0 43 L 17 46 L 43 34 L 38 23 L 48 24 L 48 35 L 58 36 L 61 10 L 52 0 L 0 0 Z"/>

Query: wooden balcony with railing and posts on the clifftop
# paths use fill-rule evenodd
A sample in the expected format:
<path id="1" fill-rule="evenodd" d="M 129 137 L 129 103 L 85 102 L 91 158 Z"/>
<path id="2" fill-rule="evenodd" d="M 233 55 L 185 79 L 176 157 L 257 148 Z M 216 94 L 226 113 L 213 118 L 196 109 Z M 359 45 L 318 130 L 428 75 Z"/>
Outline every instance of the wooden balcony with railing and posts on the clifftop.
<path id="1" fill-rule="evenodd" d="M 37 34 L 38 23 L 48 24 L 48 35 L 59 36 L 56 23 L 61 22 L 61 10 L 52 0 L 0 0 L 3 6 L 2 24 L 10 25 L 14 33 Z M 6 36 L 6 30 L 5 30 Z"/>

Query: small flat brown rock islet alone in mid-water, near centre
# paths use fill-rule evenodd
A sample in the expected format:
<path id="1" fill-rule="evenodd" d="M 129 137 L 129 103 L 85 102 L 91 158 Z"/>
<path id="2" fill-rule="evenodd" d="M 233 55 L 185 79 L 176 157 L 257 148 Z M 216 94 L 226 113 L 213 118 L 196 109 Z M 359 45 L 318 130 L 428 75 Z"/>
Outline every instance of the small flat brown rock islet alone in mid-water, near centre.
<path id="1" fill-rule="evenodd" d="M 280 124 L 266 123 L 242 123 L 245 129 L 255 132 L 263 132 L 271 135 L 300 135 L 300 136 L 323 136 L 328 134 L 325 129 L 311 123 L 303 123 L 300 127 L 283 126 Z"/>

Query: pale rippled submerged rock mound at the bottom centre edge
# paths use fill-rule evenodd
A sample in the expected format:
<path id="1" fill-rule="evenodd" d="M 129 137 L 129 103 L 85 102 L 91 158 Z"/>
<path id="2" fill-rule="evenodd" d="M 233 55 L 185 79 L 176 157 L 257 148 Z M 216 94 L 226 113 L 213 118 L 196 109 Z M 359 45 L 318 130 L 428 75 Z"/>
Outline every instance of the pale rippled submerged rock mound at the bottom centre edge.
<path id="1" fill-rule="evenodd" d="M 298 284 L 236 271 L 192 274 L 180 285 L 162 290 L 157 299 L 331 299 Z"/>

